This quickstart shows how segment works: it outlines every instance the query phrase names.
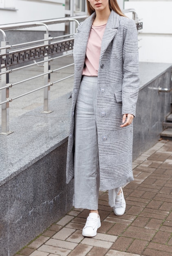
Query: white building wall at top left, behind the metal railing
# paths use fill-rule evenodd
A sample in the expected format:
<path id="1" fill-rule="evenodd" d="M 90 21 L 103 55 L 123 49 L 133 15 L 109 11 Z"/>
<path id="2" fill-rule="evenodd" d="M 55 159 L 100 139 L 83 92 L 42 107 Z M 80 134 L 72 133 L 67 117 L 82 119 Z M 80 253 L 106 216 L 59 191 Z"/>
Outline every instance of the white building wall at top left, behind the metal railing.
<path id="1" fill-rule="evenodd" d="M 46 20 L 65 16 L 65 0 L 0 0 L 0 24 Z M 50 30 L 64 31 L 64 24 Z M 29 29 L 35 30 L 35 29 Z M 39 27 L 37 30 L 45 30 Z"/>

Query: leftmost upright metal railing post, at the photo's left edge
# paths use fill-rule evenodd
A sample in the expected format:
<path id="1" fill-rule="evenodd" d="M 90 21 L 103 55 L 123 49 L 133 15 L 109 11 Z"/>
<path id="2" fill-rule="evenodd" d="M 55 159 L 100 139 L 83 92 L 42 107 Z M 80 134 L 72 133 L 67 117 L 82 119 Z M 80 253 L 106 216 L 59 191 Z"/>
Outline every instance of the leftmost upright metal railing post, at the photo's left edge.
<path id="1" fill-rule="evenodd" d="M 5 41 L 6 36 L 4 36 L 4 41 L 1 42 L 1 47 L 5 47 L 9 45 L 9 42 Z M 6 54 L 9 52 L 9 49 L 1 49 L 1 54 Z M 7 59 L 6 59 L 7 61 Z M 6 67 L 3 67 L 4 64 L 1 65 L 1 72 L 6 71 Z M 1 75 L 1 87 L 4 87 L 9 83 L 9 73 L 7 74 L 2 74 Z M 9 99 L 9 87 L 2 89 L 2 102 L 6 101 Z M 9 135 L 12 133 L 12 131 L 9 131 L 9 101 L 2 104 L 1 106 L 1 111 L 2 111 L 2 127 L 1 127 L 1 132 L 0 134 L 2 135 Z"/>

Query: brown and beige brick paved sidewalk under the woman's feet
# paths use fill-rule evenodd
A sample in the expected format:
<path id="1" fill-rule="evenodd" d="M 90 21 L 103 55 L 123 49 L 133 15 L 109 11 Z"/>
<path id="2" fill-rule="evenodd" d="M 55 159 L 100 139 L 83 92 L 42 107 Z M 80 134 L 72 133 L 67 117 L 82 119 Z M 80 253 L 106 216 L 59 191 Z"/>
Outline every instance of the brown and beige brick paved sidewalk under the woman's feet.
<path id="1" fill-rule="evenodd" d="M 172 141 L 159 141 L 133 168 L 123 216 L 115 216 L 108 192 L 100 192 L 97 236 L 82 236 L 88 210 L 73 209 L 15 256 L 171 256 Z"/>

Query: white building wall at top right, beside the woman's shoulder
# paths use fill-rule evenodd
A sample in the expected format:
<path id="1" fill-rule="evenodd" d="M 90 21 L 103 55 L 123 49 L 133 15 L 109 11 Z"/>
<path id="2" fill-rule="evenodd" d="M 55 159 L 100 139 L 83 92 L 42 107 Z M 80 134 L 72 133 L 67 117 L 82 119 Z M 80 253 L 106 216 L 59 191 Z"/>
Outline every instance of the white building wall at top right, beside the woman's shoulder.
<path id="1" fill-rule="evenodd" d="M 139 34 L 139 60 L 172 63 L 172 0 L 129 0 L 143 21 Z"/>

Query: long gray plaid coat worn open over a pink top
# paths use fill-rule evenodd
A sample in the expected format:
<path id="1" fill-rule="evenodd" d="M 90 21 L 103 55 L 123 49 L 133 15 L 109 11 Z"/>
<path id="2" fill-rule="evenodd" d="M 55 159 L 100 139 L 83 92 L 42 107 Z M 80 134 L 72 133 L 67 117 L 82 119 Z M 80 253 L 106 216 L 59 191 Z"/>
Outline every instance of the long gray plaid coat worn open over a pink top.
<path id="1" fill-rule="evenodd" d="M 74 40 L 75 72 L 66 183 L 74 177 L 75 104 L 94 19 L 95 13 L 79 25 Z M 139 60 L 135 22 L 111 11 L 101 43 L 97 84 L 97 137 L 102 191 L 133 180 L 132 124 L 123 128 L 120 125 L 123 114 L 135 116 L 138 91 Z"/>

